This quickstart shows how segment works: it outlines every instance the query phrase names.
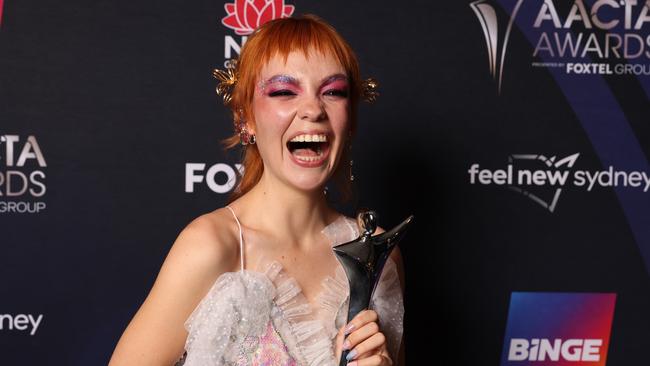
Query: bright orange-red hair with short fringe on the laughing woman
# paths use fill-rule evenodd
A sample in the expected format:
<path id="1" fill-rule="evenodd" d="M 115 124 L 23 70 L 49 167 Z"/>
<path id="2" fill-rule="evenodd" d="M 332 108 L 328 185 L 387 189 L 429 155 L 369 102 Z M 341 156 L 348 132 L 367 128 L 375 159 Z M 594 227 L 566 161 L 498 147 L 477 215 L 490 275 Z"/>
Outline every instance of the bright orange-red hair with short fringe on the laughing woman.
<path id="1" fill-rule="evenodd" d="M 242 47 L 237 62 L 237 84 L 232 92 L 230 108 L 232 109 L 235 121 L 243 117 L 248 124 L 255 126 L 255 118 L 252 114 L 253 95 L 255 83 L 259 77 L 262 67 L 274 56 L 284 58 L 286 62 L 289 53 L 302 52 L 305 57 L 310 51 L 317 51 L 325 55 L 332 55 L 343 66 L 350 85 L 350 132 L 354 134 L 357 124 L 357 106 L 360 97 L 360 76 L 359 62 L 350 45 L 340 34 L 324 20 L 315 15 L 303 15 L 296 18 L 275 19 L 260 26 L 252 36 L 248 38 Z M 241 110 L 241 112 L 240 112 Z M 240 113 L 243 116 L 240 116 Z M 239 145 L 239 133 L 224 141 L 226 149 Z M 345 154 L 347 154 L 347 149 Z M 343 156 L 339 160 L 338 167 L 334 172 L 334 179 L 341 193 L 341 199 L 345 202 L 350 199 L 351 186 L 344 171 L 349 157 Z M 244 173 L 240 177 L 237 188 L 229 198 L 229 202 L 244 195 L 257 182 L 259 182 L 264 171 L 264 165 L 256 145 L 247 145 L 242 159 Z"/>

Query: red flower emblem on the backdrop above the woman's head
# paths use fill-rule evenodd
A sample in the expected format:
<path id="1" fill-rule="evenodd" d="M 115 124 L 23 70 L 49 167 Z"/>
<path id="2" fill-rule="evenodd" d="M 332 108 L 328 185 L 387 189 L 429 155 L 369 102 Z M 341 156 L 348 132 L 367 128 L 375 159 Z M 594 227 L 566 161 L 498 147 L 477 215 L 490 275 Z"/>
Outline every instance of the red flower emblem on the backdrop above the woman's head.
<path id="1" fill-rule="evenodd" d="M 225 4 L 225 8 L 228 15 L 221 23 L 239 35 L 251 34 L 269 20 L 290 17 L 295 10 L 293 5 L 285 5 L 284 0 L 235 0 Z"/>

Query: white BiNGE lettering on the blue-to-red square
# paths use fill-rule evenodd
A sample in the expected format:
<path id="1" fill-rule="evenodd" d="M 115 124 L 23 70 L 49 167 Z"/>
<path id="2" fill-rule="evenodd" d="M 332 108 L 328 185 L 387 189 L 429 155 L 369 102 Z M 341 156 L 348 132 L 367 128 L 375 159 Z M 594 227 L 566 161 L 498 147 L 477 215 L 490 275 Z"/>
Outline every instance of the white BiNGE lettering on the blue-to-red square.
<path id="1" fill-rule="evenodd" d="M 600 361 L 602 339 L 512 338 L 508 361 Z"/>

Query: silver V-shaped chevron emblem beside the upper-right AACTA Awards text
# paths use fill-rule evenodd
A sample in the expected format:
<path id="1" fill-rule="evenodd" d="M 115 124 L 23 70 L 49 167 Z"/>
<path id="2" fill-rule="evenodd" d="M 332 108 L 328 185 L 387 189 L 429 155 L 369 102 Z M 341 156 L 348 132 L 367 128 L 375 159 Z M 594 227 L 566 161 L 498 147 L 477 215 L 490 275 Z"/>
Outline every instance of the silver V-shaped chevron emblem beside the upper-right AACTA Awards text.
<path id="1" fill-rule="evenodd" d="M 487 0 L 478 0 L 470 4 L 470 7 L 476 13 L 478 20 L 481 22 L 481 27 L 483 28 L 483 35 L 485 36 L 485 43 L 487 44 L 488 49 L 490 74 L 492 74 L 492 77 L 498 81 L 499 93 L 501 93 L 503 64 L 506 59 L 506 51 L 508 49 L 510 32 L 512 31 L 512 23 L 514 22 L 523 2 L 524 0 L 517 1 L 512 16 L 506 22 L 505 35 L 501 40 L 499 40 L 499 29 L 501 25 L 497 19 L 494 6 L 488 4 Z M 499 50 L 501 52 L 499 52 Z"/>

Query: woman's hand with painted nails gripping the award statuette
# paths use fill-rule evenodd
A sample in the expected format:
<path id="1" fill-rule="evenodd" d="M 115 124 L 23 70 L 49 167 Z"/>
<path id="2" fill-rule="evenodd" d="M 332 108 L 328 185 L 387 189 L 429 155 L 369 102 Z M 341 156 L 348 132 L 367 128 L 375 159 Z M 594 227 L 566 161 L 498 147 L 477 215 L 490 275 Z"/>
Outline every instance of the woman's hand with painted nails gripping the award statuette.
<path id="1" fill-rule="evenodd" d="M 379 331 L 377 319 L 374 310 L 364 310 L 339 330 L 335 352 L 337 362 L 344 350 L 351 350 L 348 366 L 393 365 L 386 350 L 386 337 Z"/>

